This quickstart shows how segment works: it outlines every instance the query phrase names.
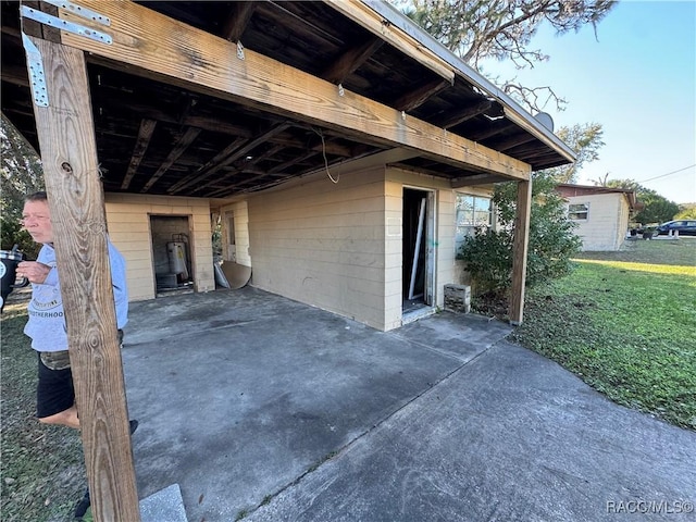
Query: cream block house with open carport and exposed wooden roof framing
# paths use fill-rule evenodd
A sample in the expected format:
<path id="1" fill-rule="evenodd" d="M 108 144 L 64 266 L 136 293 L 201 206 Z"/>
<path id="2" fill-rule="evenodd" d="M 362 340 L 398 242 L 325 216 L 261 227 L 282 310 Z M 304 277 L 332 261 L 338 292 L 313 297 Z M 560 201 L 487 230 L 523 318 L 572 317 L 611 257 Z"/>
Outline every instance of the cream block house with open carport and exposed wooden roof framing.
<path id="1" fill-rule="evenodd" d="M 414 307 L 443 306 L 461 278 L 458 244 L 492 222 L 493 184 L 512 181 L 510 316 L 522 321 L 531 172 L 574 154 L 401 13 L 366 1 L 79 4 L 99 16 L 41 7 L 105 37 L 42 33 L 2 3 L 2 110 L 37 150 L 70 158 L 79 144 L 76 179 L 100 173 L 132 299 L 213 290 L 220 219 L 223 258 L 250 266 L 253 286 L 391 330 Z M 42 92 L 22 41 L 40 47 Z M 85 85 L 59 86 L 50 67 Z M 75 135 L 52 133 L 51 117 Z M 101 204 L 62 183 L 66 162 L 46 160 L 49 199 Z M 171 244 L 185 275 L 172 273 Z"/>

